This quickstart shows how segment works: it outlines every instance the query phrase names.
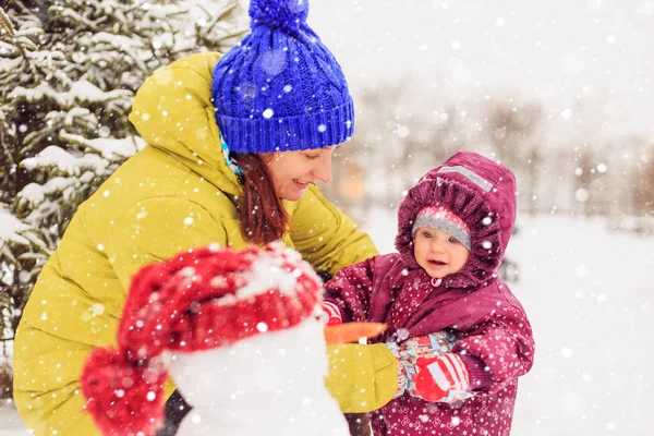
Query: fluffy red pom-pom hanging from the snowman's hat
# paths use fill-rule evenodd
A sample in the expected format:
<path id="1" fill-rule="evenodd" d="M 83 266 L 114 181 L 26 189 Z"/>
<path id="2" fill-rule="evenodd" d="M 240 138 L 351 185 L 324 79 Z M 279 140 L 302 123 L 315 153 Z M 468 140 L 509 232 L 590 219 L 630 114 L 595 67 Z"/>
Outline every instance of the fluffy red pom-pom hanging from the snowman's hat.
<path id="1" fill-rule="evenodd" d="M 85 410 L 104 435 L 152 435 L 164 419 L 165 382 L 154 361 L 134 363 L 116 349 L 95 349 L 82 371 Z"/>

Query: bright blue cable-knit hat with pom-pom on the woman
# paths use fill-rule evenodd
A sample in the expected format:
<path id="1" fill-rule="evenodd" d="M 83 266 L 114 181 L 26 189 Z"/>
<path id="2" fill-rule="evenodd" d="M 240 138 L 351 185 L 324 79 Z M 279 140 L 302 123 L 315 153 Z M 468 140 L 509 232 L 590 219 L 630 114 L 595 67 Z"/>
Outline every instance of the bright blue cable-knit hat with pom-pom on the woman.
<path id="1" fill-rule="evenodd" d="M 252 32 L 214 70 L 216 120 L 229 149 L 328 147 L 354 132 L 348 82 L 306 24 L 308 0 L 251 0 Z"/>

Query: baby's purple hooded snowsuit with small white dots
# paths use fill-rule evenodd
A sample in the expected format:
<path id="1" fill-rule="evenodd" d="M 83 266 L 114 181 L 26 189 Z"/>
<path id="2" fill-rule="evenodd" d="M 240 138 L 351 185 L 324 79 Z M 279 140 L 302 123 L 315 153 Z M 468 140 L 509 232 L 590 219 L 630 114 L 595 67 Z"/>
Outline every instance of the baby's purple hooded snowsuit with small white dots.
<path id="1" fill-rule="evenodd" d="M 472 249 L 461 271 L 434 286 L 437 281 L 413 257 L 411 230 L 423 207 L 438 205 L 469 226 Z M 341 269 L 326 284 L 326 300 L 340 307 L 346 322 L 386 323 L 388 329 L 377 342 L 450 329 L 460 338 L 452 352 L 477 358 L 491 377 L 486 373 L 486 386 L 459 403 L 426 402 L 404 393 L 374 412 L 375 435 L 508 436 L 517 379 L 534 359 L 526 314 L 497 277 L 516 221 L 513 174 L 474 153 L 457 153 L 409 191 L 398 218 L 399 254 Z"/>

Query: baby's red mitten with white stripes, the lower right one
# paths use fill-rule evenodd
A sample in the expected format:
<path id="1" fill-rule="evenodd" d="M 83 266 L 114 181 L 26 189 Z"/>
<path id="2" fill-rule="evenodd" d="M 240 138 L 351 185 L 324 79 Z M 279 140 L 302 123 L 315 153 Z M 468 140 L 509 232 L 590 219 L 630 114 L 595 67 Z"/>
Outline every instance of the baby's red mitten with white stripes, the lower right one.
<path id="1" fill-rule="evenodd" d="M 458 354 L 419 359 L 409 393 L 425 401 L 453 402 L 472 397 L 470 374 Z"/>

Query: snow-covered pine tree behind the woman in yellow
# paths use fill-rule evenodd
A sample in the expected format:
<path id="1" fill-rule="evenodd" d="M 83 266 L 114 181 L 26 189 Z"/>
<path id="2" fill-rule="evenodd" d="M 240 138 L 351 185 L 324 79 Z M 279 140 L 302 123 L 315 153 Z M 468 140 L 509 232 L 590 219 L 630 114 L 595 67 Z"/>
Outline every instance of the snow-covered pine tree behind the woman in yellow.
<path id="1" fill-rule="evenodd" d="M 229 48 L 247 29 L 243 14 L 238 0 L 0 8 L 0 338 L 13 337 L 80 203 L 143 146 L 128 121 L 141 83 L 190 52 Z"/>

